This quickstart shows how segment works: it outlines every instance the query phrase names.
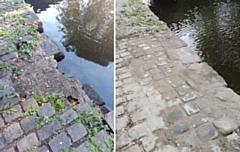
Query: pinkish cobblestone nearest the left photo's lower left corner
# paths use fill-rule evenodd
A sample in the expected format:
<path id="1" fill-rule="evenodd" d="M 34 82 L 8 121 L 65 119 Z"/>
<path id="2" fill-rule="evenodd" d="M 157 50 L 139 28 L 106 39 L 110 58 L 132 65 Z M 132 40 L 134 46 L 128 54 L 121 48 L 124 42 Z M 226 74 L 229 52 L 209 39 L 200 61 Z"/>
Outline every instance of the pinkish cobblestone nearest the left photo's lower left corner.
<path id="1" fill-rule="evenodd" d="M 7 144 L 11 143 L 15 139 L 19 138 L 23 134 L 23 131 L 19 123 L 13 123 L 9 127 L 4 129 L 3 137 Z"/>

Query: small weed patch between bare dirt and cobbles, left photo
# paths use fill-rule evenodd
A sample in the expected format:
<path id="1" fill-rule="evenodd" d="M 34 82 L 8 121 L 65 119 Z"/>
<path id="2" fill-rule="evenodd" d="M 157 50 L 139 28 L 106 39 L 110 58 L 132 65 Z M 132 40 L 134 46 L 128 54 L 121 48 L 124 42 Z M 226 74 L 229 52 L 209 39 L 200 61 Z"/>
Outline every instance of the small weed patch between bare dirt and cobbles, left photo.
<path id="1" fill-rule="evenodd" d="M 32 96 L 38 104 L 42 105 L 44 103 L 50 103 L 56 112 L 61 112 L 64 109 L 64 94 L 62 92 L 56 94 L 56 95 L 47 95 L 47 96 L 39 96 L 39 95 L 33 95 Z"/>

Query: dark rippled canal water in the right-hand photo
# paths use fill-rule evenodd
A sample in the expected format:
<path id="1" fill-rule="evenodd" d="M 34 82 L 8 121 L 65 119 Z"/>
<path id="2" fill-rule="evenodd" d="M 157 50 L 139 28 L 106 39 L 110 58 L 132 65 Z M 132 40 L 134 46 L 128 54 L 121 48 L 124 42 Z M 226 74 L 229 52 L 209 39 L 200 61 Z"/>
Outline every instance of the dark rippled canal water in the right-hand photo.
<path id="1" fill-rule="evenodd" d="M 155 0 L 150 9 L 240 94 L 240 0 Z"/>

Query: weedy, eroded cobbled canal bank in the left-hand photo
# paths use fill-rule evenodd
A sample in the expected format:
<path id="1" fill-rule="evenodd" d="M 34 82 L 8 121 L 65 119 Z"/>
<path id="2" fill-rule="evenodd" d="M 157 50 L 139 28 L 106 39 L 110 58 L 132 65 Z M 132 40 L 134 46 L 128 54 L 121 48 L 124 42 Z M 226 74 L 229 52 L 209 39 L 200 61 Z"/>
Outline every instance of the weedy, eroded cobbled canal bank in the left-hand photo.
<path id="1" fill-rule="evenodd" d="M 0 1 L 0 151 L 113 150 L 114 114 L 57 69 L 60 49 L 25 3 Z"/>

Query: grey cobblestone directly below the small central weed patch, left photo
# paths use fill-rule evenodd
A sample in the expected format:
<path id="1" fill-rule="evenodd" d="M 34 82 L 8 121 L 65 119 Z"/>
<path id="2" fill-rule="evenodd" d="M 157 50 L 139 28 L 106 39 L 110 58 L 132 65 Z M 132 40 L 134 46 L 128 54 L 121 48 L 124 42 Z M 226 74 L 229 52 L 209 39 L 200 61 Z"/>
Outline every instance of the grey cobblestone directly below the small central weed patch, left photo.
<path id="1" fill-rule="evenodd" d="M 50 103 L 45 103 L 43 106 L 38 108 L 37 113 L 40 117 L 41 116 L 51 117 L 56 112 L 55 112 L 54 108 L 51 106 Z"/>

